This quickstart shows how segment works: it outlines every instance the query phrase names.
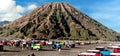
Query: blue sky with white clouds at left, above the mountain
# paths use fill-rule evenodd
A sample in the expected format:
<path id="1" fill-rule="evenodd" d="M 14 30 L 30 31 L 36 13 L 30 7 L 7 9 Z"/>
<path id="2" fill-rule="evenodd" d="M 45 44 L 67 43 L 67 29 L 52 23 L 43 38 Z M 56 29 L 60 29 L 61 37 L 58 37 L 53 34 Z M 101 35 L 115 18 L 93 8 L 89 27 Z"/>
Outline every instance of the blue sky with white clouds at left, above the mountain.
<path id="1" fill-rule="evenodd" d="M 120 0 L 0 0 L 0 21 L 14 21 L 48 2 L 66 2 L 120 33 Z"/>

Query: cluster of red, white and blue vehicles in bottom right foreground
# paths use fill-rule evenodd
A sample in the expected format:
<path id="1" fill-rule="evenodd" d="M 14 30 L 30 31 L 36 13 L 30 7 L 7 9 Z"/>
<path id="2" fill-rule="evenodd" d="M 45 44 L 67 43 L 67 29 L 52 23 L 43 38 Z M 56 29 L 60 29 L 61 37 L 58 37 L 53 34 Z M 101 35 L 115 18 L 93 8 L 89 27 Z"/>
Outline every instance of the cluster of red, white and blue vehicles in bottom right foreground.
<path id="1" fill-rule="evenodd" d="M 113 51 L 110 51 L 112 49 Z M 96 47 L 94 50 L 87 50 L 87 52 L 80 53 L 78 56 L 120 56 L 120 45 Z"/>

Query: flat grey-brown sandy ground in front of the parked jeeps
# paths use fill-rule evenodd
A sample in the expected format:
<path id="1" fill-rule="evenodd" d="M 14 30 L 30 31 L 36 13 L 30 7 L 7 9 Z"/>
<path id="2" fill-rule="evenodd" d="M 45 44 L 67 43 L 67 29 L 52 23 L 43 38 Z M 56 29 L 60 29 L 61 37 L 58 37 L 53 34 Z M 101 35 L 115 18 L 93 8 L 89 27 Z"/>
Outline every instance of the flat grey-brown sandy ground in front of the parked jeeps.
<path id="1" fill-rule="evenodd" d="M 103 45 L 103 44 L 102 44 Z M 101 44 L 94 45 L 84 45 L 76 46 L 76 48 L 62 48 L 61 52 L 57 49 L 51 49 L 50 47 L 45 47 L 43 50 L 28 50 L 16 47 L 4 46 L 4 51 L 0 52 L 0 56 L 28 56 L 34 53 L 36 56 L 77 56 L 79 52 L 85 52 L 88 49 L 94 49 L 96 46 L 101 46 Z"/>

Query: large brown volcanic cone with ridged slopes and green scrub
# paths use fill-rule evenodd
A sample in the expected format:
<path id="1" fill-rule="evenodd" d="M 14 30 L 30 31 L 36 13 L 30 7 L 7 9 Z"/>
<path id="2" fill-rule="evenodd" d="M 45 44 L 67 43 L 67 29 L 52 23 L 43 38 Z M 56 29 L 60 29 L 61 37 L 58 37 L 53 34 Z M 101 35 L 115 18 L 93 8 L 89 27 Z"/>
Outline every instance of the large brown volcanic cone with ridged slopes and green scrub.
<path id="1" fill-rule="evenodd" d="M 1 29 L 2 36 L 115 40 L 117 33 L 63 2 L 42 5 Z"/>

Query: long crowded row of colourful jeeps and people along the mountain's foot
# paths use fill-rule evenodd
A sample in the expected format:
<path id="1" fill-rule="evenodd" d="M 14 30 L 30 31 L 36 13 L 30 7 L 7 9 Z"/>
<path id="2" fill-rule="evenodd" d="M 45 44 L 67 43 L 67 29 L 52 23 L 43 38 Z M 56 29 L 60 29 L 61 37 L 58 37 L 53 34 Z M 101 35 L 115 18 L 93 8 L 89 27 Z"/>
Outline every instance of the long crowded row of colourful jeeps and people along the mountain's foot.
<path id="1" fill-rule="evenodd" d="M 0 40 L 0 51 L 4 48 L 4 45 L 28 48 L 31 50 L 41 50 L 44 49 L 45 46 L 50 46 L 53 49 L 61 49 L 63 46 L 66 48 L 75 48 L 75 45 L 78 42 L 75 41 L 49 41 L 49 40 Z M 80 44 L 78 44 L 80 45 Z"/>

